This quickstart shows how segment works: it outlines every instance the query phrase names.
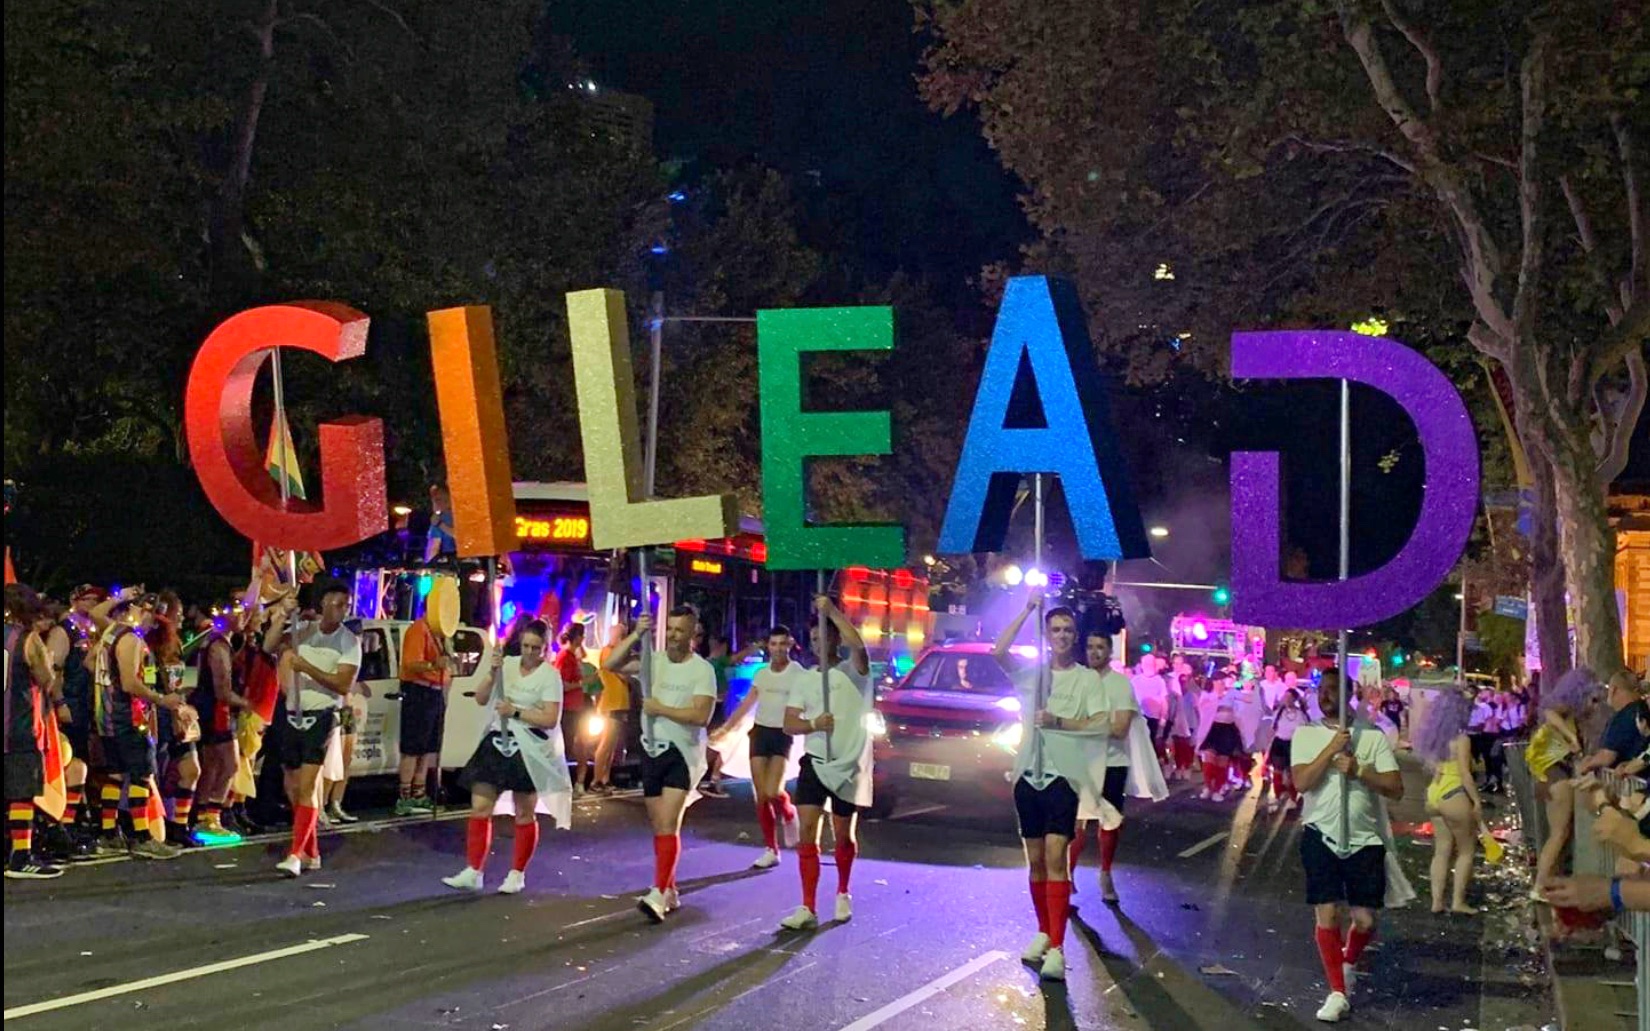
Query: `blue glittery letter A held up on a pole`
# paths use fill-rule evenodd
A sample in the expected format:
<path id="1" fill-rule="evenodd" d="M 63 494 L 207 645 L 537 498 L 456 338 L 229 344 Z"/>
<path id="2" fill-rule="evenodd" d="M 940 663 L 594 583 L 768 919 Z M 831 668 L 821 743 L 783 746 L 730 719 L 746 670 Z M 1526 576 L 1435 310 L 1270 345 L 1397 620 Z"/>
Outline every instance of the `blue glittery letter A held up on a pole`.
<path id="1" fill-rule="evenodd" d="M 1023 363 L 1041 411 L 1015 393 Z M 1020 477 L 1044 472 L 1059 477 L 1084 559 L 1148 558 L 1107 409 L 1071 284 L 1044 275 L 1010 279 L 945 506 L 940 551 L 1000 551 Z"/>

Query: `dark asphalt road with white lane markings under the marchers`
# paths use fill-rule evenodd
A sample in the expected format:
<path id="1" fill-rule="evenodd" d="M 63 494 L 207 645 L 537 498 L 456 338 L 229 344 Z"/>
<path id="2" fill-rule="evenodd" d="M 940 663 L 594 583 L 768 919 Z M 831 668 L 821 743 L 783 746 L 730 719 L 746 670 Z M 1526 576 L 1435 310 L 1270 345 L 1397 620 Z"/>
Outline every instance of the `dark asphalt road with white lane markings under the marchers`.
<path id="1" fill-rule="evenodd" d="M 1417 790 L 1411 792 L 1416 797 Z M 1079 871 L 1068 982 L 1018 962 L 1035 932 L 1011 815 L 945 812 L 861 826 L 855 919 L 777 932 L 799 901 L 795 858 L 747 869 L 747 800 L 688 812 L 683 907 L 648 924 L 640 798 L 581 802 L 541 835 L 526 892 L 459 896 L 464 822 L 421 818 L 322 836 L 325 869 L 277 879 L 277 843 L 170 863 L 78 866 L 5 883 L 5 1021 L 111 1028 L 744 1028 L 785 1031 L 1307 1028 L 1327 991 L 1302 902 L 1292 818 L 1254 792 L 1216 807 L 1185 787 L 1132 803 L 1117 883 Z M 508 868 L 495 830 L 488 887 Z M 1401 841 L 1417 889 L 1431 846 Z M 822 909 L 835 891 L 827 866 Z M 1495 917 L 1488 917 L 1495 920 Z M 1350 1028 L 1543 1024 L 1551 1005 L 1487 917 L 1388 914 Z M 1521 967 L 1523 965 L 1523 967 Z M 144 983 L 150 982 L 150 983 Z M 157 983 L 158 982 L 158 983 Z"/>

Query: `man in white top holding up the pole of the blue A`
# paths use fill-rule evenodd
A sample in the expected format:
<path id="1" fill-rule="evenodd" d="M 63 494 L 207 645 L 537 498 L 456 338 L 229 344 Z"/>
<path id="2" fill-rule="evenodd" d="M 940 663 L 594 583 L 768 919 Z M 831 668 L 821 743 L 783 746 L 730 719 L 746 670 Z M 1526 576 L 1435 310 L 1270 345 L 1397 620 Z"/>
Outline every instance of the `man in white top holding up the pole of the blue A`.
<path id="1" fill-rule="evenodd" d="M 1094 732 L 1110 729 L 1099 675 L 1077 661 L 1077 619 L 1064 605 L 1049 609 L 1043 632 L 1049 650 L 1049 690 L 1038 706 L 1040 666 L 1013 670 L 1011 647 L 1043 599 L 1035 596 L 1002 632 L 992 657 L 1015 680 L 1021 703 L 1021 739 L 1015 759 L 1015 810 L 1031 878 L 1038 932 L 1020 958 L 1041 963 L 1044 980 L 1066 980 L 1066 917 L 1071 909 L 1068 848 L 1077 833 L 1079 793 L 1099 793 L 1096 770 L 1106 751 Z M 1104 779 L 1104 772 L 1101 774 Z"/>

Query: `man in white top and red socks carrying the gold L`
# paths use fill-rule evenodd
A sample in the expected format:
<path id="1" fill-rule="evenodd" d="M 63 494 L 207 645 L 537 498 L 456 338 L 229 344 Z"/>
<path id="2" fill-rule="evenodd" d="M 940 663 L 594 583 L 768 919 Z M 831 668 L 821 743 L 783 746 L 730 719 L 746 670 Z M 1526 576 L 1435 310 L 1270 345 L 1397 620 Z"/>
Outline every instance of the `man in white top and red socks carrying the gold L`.
<path id="1" fill-rule="evenodd" d="M 653 826 L 653 887 L 637 907 L 655 924 L 676 909 L 676 861 L 681 856 L 681 813 L 705 774 L 705 724 L 716 706 L 716 673 L 693 653 L 693 605 L 676 605 L 665 619 L 665 650 L 652 653 L 647 701 L 642 703 L 642 797 Z M 622 670 L 653 620 L 642 615 L 635 630 L 607 657 Z M 632 663 L 640 670 L 640 661 Z"/>

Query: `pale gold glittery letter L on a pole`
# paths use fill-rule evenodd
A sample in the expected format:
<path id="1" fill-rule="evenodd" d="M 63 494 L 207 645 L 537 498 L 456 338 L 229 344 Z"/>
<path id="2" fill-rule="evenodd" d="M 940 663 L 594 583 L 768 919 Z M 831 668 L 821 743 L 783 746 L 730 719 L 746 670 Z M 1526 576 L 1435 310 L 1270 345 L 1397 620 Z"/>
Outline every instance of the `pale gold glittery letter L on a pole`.
<path id="1" fill-rule="evenodd" d="M 584 480 L 591 493 L 591 543 L 599 549 L 645 548 L 733 536 L 739 528 L 733 495 L 668 501 L 642 497 L 642 434 L 637 431 L 624 292 L 568 294 L 568 330 L 584 435 Z M 705 403 L 726 404 L 729 399 L 706 398 Z"/>

